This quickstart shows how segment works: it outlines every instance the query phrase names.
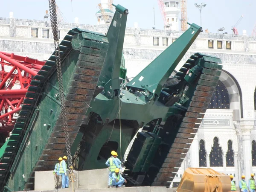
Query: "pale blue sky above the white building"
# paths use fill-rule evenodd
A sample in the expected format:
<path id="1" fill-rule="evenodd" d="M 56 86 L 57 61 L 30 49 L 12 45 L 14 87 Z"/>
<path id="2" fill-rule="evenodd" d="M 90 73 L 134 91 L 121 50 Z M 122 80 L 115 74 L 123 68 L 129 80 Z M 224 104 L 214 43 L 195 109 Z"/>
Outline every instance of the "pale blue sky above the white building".
<path id="1" fill-rule="evenodd" d="M 45 10 L 48 8 L 48 0 L 0 0 L 0 17 L 9 17 L 9 12 L 14 12 L 14 17 L 19 19 L 43 20 Z M 209 32 L 217 32 L 221 27 L 226 32 L 232 33 L 231 26 L 235 25 L 241 15 L 243 19 L 237 26 L 239 34 L 247 30 L 251 35 L 256 24 L 256 0 L 187 0 L 187 17 L 189 23 L 200 25 L 200 14 L 194 3 L 206 3 L 202 10 L 202 27 Z M 97 4 L 100 0 L 73 0 L 73 12 L 71 0 L 56 0 L 56 3 L 68 22 L 74 22 L 79 17 L 79 23 L 96 24 L 95 13 L 99 10 Z M 157 29 L 163 29 L 163 19 L 157 4 L 157 0 L 114 0 L 114 4 L 120 4 L 129 10 L 127 26 L 134 26 L 138 22 L 140 28 L 150 29 L 154 25 L 153 7 L 155 7 L 155 20 Z"/>

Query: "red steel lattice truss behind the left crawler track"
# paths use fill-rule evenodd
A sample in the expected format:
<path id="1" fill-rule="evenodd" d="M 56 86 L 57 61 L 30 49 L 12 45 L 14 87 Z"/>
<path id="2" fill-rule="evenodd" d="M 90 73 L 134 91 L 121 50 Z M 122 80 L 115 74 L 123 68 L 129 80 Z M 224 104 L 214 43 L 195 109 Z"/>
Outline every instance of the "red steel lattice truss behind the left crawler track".
<path id="1" fill-rule="evenodd" d="M 45 61 L 0 52 L 0 133 L 12 131 L 32 77 Z"/>

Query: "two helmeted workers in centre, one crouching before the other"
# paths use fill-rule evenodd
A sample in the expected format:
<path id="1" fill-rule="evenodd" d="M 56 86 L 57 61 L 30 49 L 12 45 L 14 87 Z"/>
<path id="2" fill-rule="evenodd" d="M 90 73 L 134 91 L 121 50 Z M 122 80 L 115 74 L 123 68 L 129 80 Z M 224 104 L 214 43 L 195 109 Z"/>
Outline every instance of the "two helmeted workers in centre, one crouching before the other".
<path id="1" fill-rule="evenodd" d="M 123 183 L 127 183 L 126 179 L 120 173 L 121 161 L 117 158 L 116 151 L 111 151 L 111 157 L 108 158 L 106 165 L 109 169 L 108 188 L 110 187 L 125 187 Z"/>

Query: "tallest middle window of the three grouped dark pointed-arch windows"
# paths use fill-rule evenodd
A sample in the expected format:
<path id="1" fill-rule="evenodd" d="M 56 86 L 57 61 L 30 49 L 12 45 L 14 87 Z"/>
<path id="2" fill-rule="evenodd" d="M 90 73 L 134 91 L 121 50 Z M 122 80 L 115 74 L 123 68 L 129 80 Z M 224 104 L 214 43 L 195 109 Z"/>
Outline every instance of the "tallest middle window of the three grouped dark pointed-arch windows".
<path id="1" fill-rule="evenodd" d="M 218 144 L 217 137 L 214 137 L 213 139 L 213 147 L 210 153 L 210 166 L 211 167 L 223 166 L 222 151 L 221 151 L 221 147 Z"/>

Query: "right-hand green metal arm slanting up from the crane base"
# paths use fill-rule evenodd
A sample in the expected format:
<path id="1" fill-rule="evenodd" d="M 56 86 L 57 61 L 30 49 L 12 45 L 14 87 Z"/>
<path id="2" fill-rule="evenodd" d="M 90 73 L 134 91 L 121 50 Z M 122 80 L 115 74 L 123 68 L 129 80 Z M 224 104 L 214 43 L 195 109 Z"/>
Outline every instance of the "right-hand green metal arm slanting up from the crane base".
<path id="1" fill-rule="evenodd" d="M 193 23 L 180 38 L 145 67 L 127 86 L 148 90 L 151 94 L 160 96 L 163 85 L 201 31 L 202 28 Z"/>

